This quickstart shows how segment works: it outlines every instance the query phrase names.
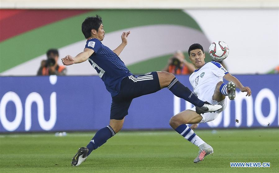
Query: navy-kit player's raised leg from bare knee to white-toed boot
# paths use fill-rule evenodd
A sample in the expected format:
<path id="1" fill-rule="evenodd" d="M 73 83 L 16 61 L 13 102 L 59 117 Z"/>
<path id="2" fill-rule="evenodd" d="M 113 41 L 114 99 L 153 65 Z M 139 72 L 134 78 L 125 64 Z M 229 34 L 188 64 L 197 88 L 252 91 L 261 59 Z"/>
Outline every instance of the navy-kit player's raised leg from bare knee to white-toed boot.
<path id="1" fill-rule="evenodd" d="M 181 84 L 172 73 L 165 71 L 160 71 L 157 73 L 161 88 L 167 87 L 177 97 L 183 98 L 184 100 L 195 105 L 196 112 L 198 114 L 205 112 L 215 112 L 222 108 L 221 105 L 211 105 L 208 102 L 198 99 L 198 97 L 188 87 Z"/>

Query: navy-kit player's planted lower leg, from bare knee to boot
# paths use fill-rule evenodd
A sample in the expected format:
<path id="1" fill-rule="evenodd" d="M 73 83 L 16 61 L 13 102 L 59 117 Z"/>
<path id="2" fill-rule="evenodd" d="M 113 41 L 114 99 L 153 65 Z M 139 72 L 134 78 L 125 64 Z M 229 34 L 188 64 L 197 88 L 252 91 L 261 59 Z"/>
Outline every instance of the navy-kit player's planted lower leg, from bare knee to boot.
<path id="1" fill-rule="evenodd" d="M 86 147 L 79 148 L 72 159 L 72 166 L 79 166 L 85 161 L 93 150 L 99 148 L 106 143 L 108 139 L 118 133 L 122 129 L 123 123 L 124 118 L 122 120 L 110 120 L 110 125 L 98 130 Z"/>

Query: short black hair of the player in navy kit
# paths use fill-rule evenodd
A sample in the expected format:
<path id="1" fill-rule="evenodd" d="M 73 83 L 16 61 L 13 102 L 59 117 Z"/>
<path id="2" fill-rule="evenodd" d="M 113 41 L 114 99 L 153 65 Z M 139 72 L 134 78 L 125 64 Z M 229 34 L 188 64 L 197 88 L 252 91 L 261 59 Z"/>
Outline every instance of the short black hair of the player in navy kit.
<path id="1" fill-rule="evenodd" d="M 101 16 L 90 16 L 86 17 L 86 19 L 81 24 L 81 31 L 86 39 L 91 37 L 91 30 L 98 31 L 101 24 L 103 23 Z"/>

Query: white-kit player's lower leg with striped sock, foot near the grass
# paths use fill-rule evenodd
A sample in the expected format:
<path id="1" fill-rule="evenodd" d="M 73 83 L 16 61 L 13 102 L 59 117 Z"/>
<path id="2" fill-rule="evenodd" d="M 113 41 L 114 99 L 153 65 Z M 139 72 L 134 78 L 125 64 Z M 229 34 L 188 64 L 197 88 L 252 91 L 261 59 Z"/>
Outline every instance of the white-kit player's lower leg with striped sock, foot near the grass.
<path id="1" fill-rule="evenodd" d="M 203 117 L 195 111 L 185 110 L 173 116 L 169 121 L 169 125 L 176 132 L 200 148 L 199 154 L 194 160 L 194 163 L 202 161 L 205 156 L 213 153 L 213 148 L 209 144 L 205 143 L 205 141 L 203 141 L 189 126 L 186 125 L 199 123 L 202 119 Z"/>

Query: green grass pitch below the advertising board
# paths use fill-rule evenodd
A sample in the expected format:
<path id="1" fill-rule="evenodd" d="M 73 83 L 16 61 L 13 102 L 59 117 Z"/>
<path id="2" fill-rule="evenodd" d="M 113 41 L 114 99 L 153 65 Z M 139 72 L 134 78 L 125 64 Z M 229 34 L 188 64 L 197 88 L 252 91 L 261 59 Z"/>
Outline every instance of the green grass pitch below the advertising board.
<path id="1" fill-rule="evenodd" d="M 195 130 L 214 148 L 193 163 L 198 148 L 175 131 L 122 131 L 70 165 L 92 133 L 1 134 L 0 172 L 279 172 L 279 129 Z M 269 168 L 231 168 L 230 162 L 270 162 Z"/>

